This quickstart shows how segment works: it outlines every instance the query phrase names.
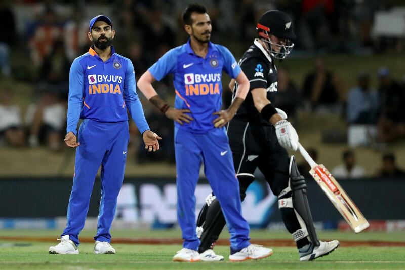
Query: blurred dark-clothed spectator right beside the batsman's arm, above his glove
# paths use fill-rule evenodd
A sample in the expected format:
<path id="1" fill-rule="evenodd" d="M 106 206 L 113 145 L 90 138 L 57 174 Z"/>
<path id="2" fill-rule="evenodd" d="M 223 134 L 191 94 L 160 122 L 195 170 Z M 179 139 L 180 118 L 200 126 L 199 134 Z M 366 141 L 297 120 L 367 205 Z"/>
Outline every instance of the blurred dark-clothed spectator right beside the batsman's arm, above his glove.
<path id="1" fill-rule="evenodd" d="M 274 100 L 274 106 L 284 110 L 291 122 L 291 119 L 295 118 L 298 105 L 301 103 L 301 96 L 295 84 L 290 80 L 290 74 L 286 68 L 279 67 L 277 77 L 278 94 Z"/>

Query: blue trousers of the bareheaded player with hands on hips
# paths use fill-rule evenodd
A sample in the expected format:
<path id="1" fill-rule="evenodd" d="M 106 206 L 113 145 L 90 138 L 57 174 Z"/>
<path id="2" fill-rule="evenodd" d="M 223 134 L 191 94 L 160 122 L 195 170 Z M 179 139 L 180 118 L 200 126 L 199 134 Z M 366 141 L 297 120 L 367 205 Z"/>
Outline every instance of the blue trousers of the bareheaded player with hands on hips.
<path id="1" fill-rule="evenodd" d="M 249 246 L 249 224 L 242 217 L 239 182 L 225 128 L 215 128 L 204 134 L 180 128 L 175 133 L 177 219 L 182 230 L 183 247 L 197 250 L 200 243 L 195 232 L 194 192 L 201 161 L 224 213 L 231 250 L 238 251 Z"/>

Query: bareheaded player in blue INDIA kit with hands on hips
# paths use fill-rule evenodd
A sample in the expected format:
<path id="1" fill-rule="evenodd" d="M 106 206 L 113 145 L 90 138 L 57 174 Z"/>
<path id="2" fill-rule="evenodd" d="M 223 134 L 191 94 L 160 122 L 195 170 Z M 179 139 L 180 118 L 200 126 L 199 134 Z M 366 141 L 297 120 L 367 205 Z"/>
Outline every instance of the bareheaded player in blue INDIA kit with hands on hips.
<path id="1" fill-rule="evenodd" d="M 194 191 L 201 162 L 223 209 L 230 232 L 232 261 L 261 259 L 272 250 L 249 242 L 249 225 L 242 217 L 239 186 L 224 125 L 235 115 L 249 90 L 249 81 L 227 48 L 210 42 L 211 21 L 204 6 L 191 4 L 183 13 L 188 42 L 167 52 L 138 81 L 146 98 L 175 121 L 177 218 L 183 249 L 174 261 L 223 260 L 212 249 L 199 254 L 195 225 Z M 222 105 L 222 71 L 238 83 L 227 110 Z M 169 73 L 174 75 L 175 107 L 163 101 L 152 87 Z"/>

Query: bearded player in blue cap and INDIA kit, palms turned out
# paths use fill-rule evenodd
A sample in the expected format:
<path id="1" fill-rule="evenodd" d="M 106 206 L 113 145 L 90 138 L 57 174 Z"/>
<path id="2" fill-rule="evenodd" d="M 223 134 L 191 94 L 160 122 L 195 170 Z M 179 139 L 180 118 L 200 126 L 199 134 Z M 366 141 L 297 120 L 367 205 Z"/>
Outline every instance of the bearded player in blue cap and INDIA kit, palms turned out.
<path id="1" fill-rule="evenodd" d="M 52 254 L 78 254 L 78 235 L 89 209 L 94 179 L 101 165 L 101 201 L 95 254 L 114 254 L 110 228 L 117 196 L 124 179 L 129 140 L 128 114 L 142 133 L 148 151 L 159 149 L 156 133 L 150 131 L 136 93 L 131 60 L 115 53 L 111 20 L 96 16 L 90 21 L 89 51 L 77 57 L 70 68 L 67 134 L 65 143 L 77 147 L 73 187 L 67 208 L 67 224 Z M 83 119 L 77 136 L 78 120 Z"/>

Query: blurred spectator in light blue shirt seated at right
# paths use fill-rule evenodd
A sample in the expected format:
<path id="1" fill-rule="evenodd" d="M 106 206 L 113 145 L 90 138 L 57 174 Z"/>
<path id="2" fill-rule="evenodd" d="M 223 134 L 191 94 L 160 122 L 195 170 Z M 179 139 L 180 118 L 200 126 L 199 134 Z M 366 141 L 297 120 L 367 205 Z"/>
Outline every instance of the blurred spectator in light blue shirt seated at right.
<path id="1" fill-rule="evenodd" d="M 370 75 L 361 72 L 358 85 L 349 91 L 346 116 L 350 124 L 376 124 L 379 109 L 378 94 L 370 87 Z"/>

